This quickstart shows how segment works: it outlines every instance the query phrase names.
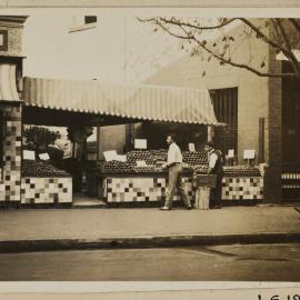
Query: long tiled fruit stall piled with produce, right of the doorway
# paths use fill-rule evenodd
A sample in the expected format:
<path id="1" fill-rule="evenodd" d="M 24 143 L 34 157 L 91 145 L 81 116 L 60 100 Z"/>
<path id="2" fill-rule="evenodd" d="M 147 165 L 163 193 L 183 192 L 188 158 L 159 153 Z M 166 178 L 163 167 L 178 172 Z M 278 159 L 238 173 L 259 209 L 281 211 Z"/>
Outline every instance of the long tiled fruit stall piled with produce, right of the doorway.
<path id="1" fill-rule="evenodd" d="M 183 151 L 182 181 L 192 201 L 196 198 L 192 178 L 194 173 L 207 173 L 207 154 Z M 103 197 L 109 206 L 127 203 L 161 204 L 166 199 L 168 170 L 161 168 L 167 160 L 167 150 L 140 150 L 127 153 L 127 161 L 100 161 Z M 144 161 L 138 167 L 138 161 Z M 263 177 L 258 167 L 224 167 L 222 200 L 260 201 L 263 198 Z M 174 201 L 179 201 L 179 194 Z"/>

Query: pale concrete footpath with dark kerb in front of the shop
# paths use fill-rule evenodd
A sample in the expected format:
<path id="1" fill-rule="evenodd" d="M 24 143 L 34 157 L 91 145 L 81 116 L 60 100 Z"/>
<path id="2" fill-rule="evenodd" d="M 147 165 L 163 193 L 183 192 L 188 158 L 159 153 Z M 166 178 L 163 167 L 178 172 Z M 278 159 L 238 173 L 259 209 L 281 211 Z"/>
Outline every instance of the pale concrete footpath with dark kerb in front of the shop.
<path id="1" fill-rule="evenodd" d="M 0 252 L 300 242 L 299 207 L 0 211 Z"/>

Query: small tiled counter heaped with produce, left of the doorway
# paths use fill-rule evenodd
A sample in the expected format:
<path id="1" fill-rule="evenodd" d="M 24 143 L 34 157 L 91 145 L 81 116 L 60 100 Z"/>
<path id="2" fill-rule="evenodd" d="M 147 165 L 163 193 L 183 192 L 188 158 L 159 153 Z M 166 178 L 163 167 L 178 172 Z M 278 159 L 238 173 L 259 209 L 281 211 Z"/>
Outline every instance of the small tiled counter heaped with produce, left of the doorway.
<path id="1" fill-rule="evenodd" d="M 72 203 L 72 178 L 42 161 L 22 161 L 21 203 Z"/>

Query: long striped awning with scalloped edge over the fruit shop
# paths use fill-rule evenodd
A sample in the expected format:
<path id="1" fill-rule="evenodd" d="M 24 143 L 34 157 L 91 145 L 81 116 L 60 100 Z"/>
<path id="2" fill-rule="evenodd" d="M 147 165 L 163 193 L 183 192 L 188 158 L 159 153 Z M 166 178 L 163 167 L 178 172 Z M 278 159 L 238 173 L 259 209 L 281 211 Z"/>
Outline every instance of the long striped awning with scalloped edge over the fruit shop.
<path id="1" fill-rule="evenodd" d="M 26 106 L 134 120 L 217 124 L 208 90 L 24 78 Z"/>

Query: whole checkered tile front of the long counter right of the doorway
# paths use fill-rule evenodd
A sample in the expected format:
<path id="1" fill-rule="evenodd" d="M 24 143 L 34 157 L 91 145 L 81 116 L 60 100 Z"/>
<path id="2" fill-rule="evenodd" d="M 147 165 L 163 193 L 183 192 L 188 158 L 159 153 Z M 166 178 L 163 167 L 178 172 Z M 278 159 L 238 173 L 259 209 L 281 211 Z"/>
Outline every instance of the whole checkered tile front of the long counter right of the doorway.
<path id="1" fill-rule="evenodd" d="M 196 191 L 192 187 L 192 177 L 182 177 L 186 191 L 194 200 Z M 122 202 L 156 202 L 166 199 L 168 179 L 164 176 L 134 176 L 134 177 L 107 177 L 104 197 L 108 203 Z M 263 199 L 263 178 L 223 178 L 222 200 L 261 200 Z M 174 197 L 174 201 L 180 196 Z"/>

